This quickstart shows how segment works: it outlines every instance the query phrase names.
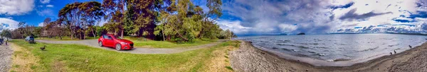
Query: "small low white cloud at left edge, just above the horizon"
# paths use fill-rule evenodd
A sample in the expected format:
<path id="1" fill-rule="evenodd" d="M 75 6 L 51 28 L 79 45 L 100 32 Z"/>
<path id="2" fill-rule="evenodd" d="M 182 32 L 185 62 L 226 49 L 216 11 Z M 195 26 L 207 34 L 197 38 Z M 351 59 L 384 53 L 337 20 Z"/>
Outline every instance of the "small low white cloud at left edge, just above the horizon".
<path id="1" fill-rule="evenodd" d="M 17 29 L 18 27 L 18 21 L 16 20 L 11 20 L 9 18 L 0 18 L 0 26 L 1 29 L 0 30 L 4 30 L 4 29 Z"/>

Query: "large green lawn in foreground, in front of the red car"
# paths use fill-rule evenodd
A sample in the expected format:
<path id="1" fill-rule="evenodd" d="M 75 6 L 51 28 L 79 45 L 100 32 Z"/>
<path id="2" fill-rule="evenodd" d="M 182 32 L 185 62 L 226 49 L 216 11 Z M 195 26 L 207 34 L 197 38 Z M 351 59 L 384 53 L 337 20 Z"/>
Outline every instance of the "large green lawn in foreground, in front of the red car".
<path id="1" fill-rule="evenodd" d="M 214 53 L 234 47 L 238 42 L 223 42 L 214 47 L 177 54 L 129 54 L 88 47 L 79 44 L 28 44 L 12 40 L 28 49 L 39 60 L 33 71 L 206 71 Z M 46 45 L 46 51 L 38 49 Z M 229 66 L 229 65 L 228 65 Z M 220 66 L 224 68 L 224 66 Z"/>

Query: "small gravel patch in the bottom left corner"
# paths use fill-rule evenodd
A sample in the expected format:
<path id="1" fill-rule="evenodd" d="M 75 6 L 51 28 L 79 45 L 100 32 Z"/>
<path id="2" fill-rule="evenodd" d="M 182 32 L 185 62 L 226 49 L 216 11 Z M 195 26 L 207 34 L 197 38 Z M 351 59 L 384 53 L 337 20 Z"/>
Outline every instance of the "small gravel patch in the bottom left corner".
<path id="1" fill-rule="evenodd" d="M 0 72 L 7 72 L 11 68 L 11 55 L 14 53 L 9 46 L 0 46 Z"/>

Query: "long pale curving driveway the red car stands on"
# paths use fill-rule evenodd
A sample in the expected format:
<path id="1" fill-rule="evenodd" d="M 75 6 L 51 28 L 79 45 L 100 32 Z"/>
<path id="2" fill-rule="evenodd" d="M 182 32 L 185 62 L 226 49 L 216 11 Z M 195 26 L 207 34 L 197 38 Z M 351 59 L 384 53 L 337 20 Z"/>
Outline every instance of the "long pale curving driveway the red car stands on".
<path id="1" fill-rule="evenodd" d="M 226 40 L 218 40 L 218 42 L 213 42 L 211 44 L 203 44 L 203 45 L 199 45 L 199 46 L 185 47 L 185 48 L 183 47 L 183 48 L 165 49 L 165 48 L 136 48 L 135 47 L 134 49 L 131 49 L 131 50 L 122 50 L 122 51 L 117 51 L 117 50 L 110 48 L 110 47 L 100 47 L 97 45 L 97 40 L 77 40 L 77 41 L 36 40 L 36 42 L 44 42 L 44 43 L 51 43 L 51 44 L 83 44 L 83 45 L 88 45 L 90 47 L 107 49 L 107 50 L 116 51 L 116 52 L 127 52 L 127 53 L 132 53 L 132 54 L 173 54 L 173 53 L 191 51 L 194 49 L 212 47 L 212 46 L 215 46 L 216 44 L 219 44 L 221 42 L 226 42 Z"/>

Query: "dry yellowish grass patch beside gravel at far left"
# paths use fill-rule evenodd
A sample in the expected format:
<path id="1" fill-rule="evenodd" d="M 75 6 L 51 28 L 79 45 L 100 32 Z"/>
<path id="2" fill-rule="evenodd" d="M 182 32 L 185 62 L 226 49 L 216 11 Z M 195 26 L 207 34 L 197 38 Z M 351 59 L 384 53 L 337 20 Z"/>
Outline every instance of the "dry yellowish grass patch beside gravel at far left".
<path id="1" fill-rule="evenodd" d="M 33 72 L 33 69 L 37 68 L 36 64 L 39 59 L 31 54 L 28 49 L 17 46 L 16 44 L 10 44 L 14 49 L 12 56 L 12 68 L 10 71 L 18 72 Z"/>

